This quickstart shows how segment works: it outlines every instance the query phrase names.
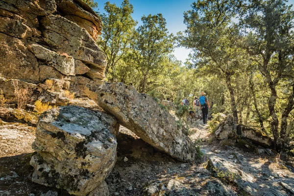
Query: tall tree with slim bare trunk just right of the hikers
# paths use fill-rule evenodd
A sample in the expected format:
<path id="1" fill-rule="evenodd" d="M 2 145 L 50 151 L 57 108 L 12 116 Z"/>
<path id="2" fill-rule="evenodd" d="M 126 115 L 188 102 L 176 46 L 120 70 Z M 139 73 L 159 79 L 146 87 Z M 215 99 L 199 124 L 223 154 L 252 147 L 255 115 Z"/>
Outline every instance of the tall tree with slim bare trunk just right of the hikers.
<path id="1" fill-rule="evenodd" d="M 234 123 L 238 124 L 238 111 L 232 86 L 233 75 L 244 67 L 242 49 L 238 48 L 240 34 L 232 18 L 237 14 L 236 0 L 198 0 L 192 10 L 184 12 L 187 25 L 181 45 L 193 49 L 196 69 L 216 74 L 224 79 L 231 98 Z"/>

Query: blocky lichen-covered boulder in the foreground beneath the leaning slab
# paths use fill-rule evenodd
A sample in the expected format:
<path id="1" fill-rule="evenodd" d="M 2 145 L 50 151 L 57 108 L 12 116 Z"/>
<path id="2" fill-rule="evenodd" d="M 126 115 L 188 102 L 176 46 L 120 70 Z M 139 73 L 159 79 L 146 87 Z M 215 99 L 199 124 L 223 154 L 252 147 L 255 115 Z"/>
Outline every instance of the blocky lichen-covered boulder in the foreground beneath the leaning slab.
<path id="1" fill-rule="evenodd" d="M 116 162 L 118 129 L 115 119 L 104 112 L 77 106 L 45 112 L 33 145 L 37 154 L 30 161 L 35 169 L 32 181 L 77 196 L 105 188 L 103 180 Z"/>

